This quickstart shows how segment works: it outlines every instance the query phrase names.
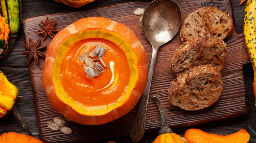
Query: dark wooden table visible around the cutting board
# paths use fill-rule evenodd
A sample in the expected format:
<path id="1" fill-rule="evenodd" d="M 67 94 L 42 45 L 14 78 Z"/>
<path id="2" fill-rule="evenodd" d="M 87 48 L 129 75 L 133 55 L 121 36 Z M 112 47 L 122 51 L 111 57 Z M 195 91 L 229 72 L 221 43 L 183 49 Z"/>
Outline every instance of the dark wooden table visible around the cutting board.
<path id="1" fill-rule="evenodd" d="M 129 1 L 135 0 L 96 0 L 95 2 L 90 3 L 82 8 L 72 8 L 64 4 L 56 3 L 53 0 L 22 0 L 22 17 L 25 19 L 33 16 L 53 14 L 58 12 L 78 11 Z M 246 2 L 241 6 L 239 6 L 239 3 L 240 0 L 232 0 L 236 29 L 238 34 L 241 34 L 243 33 L 243 18 Z M 21 29 L 11 53 L 5 59 L 0 61 L 0 70 L 2 70 L 9 81 L 18 88 L 19 97 L 15 103 L 15 106 L 26 122 L 28 128 L 32 132 L 32 135 L 36 138 L 39 138 L 27 58 L 26 56 L 20 55 L 20 53 L 25 51 L 22 44 L 24 44 L 24 35 Z M 256 107 L 254 106 L 254 95 L 252 87 L 253 70 L 250 64 L 244 66 L 244 74 L 246 83 L 246 96 L 249 108 L 245 116 L 235 119 L 226 119 L 189 127 L 176 128 L 173 129 L 173 131 L 183 136 L 187 129 L 199 128 L 208 133 L 228 135 L 239 131 L 245 125 L 252 125 L 256 127 Z M 0 119 L 0 134 L 6 132 L 27 134 L 26 130 L 22 127 L 18 119 L 15 118 L 15 116 L 11 113 Z M 145 133 L 143 139 L 140 142 L 148 143 L 152 141 L 157 135 L 157 132 Z M 116 142 L 132 142 L 129 136 L 113 138 L 110 140 Z M 110 140 L 100 142 L 107 142 Z"/>

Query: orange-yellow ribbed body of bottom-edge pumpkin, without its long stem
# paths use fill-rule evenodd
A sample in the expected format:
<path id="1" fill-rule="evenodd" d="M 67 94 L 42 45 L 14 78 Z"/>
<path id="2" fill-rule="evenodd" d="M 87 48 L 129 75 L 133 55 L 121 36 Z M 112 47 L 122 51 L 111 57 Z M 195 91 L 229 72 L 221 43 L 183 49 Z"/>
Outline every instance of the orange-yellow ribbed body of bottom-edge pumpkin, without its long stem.
<path id="1" fill-rule="evenodd" d="M 180 135 L 175 133 L 166 133 L 157 136 L 153 143 L 185 143 Z"/>

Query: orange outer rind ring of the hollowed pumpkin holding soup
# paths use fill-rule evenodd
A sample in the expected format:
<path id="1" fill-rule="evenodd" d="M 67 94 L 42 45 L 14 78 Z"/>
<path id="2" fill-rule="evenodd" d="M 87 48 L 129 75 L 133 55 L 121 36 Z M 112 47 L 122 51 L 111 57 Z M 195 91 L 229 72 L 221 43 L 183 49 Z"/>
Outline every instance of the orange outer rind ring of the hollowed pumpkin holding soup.
<path id="1" fill-rule="evenodd" d="M 71 107 L 71 103 L 64 103 L 62 99 L 58 97 L 58 93 L 55 92 L 55 87 L 53 83 L 53 73 L 52 68 L 54 61 L 56 59 L 56 47 L 60 42 L 68 36 L 77 34 L 79 31 L 84 29 L 101 29 L 103 31 L 115 32 L 129 41 L 131 47 L 135 52 L 138 64 L 134 67 L 138 68 L 138 75 L 136 78 L 136 85 L 133 87 L 131 94 L 122 105 L 117 108 L 105 112 L 101 115 L 92 114 L 82 114 L 81 111 L 75 110 Z M 61 114 L 65 114 L 66 117 L 73 120 L 74 122 L 85 124 L 85 125 L 99 125 L 110 121 L 113 121 L 119 117 L 127 114 L 138 102 L 140 96 L 145 90 L 147 79 L 148 79 L 148 67 L 147 67 L 147 56 L 144 47 L 140 43 L 136 34 L 129 29 L 127 26 L 112 21 L 103 17 L 89 17 L 80 19 L 73 24 L 67 26 L 66 28 L 59 31 L 52 42 L 48 46 L 46 59 L 44 63 L 43 73 L 42 73 L 43 84 L 45 87 L 46 95 L 54 107 Z M 102 110 L 104 111 L 104 110 Z M 92 111 L 90 112 L 92 113 Z"/>

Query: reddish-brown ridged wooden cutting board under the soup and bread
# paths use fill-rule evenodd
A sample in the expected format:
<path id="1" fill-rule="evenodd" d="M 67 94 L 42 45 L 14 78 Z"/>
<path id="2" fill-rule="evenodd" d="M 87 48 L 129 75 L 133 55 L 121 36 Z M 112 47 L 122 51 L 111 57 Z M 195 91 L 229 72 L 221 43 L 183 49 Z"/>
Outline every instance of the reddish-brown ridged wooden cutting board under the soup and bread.
<path id="1" fill-rule="evenodd" d="M 23 20 L 25 43 L 29 44 L 29 38 L 34 42 L 41 38 L 41 45 L 49 45 L 52 40 L 50 37 L 42 40 L 42 35 L 36 33 L 36 31 L 40 29 L 38 24 L 40 24 L 41 21 L 45 21 L 46 17 L 48 17 L 50 21 L 56 20 L 55 27 L 58 30 L 61 30 L 78 19 L 101 16 L 120 22 L 130 27 L 135 32 L 147 52 L 149 66 L 152 55 L 151 44 L 144 37 L 142 29 L 138 26 L 140 16 L 133 14 L 134 9 L 146 8 L 149 2 L 150 1 L 136 1 L 108 7 L 88 9 L 85 11 L 31 17 Z M 198 0 L 197 2 L 194 0 L 175 0 L 175 2 L 181 9 L 182 22 L 189 13 L 205 6 L 219 8 L 234 19 L 230 0 L 214 0 L 210 3 L 207 3 L 209 2 L 208 0 Z M 225 42 L 227 43 L 228 52 L 222 70 L 224 80 L 222 95 L 215 104 L 199 111 L 182 110 L 179 107 L 171 105 L 167 99 L 169 84 L 176 78 L 175 74 L 171 71 L 170 61 L 173 52 L 181 44 L 179 35 L 177 34 L 172 41 L 159 49 L 147 108 L 145 134 L 158 131 L 160 128 L 159 110 L 155 100 L 152 98 L 153 94 L 160 98 L 170 128 L 235 118 L 242 116 L 247 112 L 248 107 L 245 97 L 243 66 L 245 64 L 250 64 L 250 59 L 245 47 L 244 37 L 243 35 L 238 35 L 236 33 L 236 28 L 234 26 L 231 34 L 225 39 Z M 43 53 L 46 54 L 46 51 Z M 39 61 L 39 64 L 36 64 L 33 60 L 29 65 L 29 71 L 31 75 L 40 140 L 43 142 L 90 142 L 129 135 L 140 100 L 128 114 L 107 124 L 80 125 L 75 122 L 68 122 L 63 115 L 53 109 L 46 97 L 42 84 L 44 59 L 40 58 Z M 54 132 L 50 130 L 47 127 L 47 122 L 52 121 L 53 117 L 64 119 L 67 126 L 72 128 L 73 133 L 71 135 L 64 135 L 60 131 Z"/>

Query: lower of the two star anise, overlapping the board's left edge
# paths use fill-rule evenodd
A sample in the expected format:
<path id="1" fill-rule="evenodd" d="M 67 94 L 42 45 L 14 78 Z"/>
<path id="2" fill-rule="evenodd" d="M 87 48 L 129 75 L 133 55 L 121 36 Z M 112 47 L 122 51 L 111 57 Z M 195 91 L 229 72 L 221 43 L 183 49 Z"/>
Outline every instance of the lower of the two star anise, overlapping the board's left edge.
<path id="1" fill-rule="evenodd" d="M 33 43 L 32 39 L 29 38 L 30 46 L 23 44 L 23 47 L 27 51 L 22 52 L 20 55 L 29 55 L 28 60 L 27 60 L 28 64 L 30 64 L 30 62 L 32 61 L 33 58 L 35 59 L 37 64 L 39 63 L 39 60 L 38 60 L 39 56 L 45 58 L 45 55 L 40 51 L 43 51 L 47 47 L 47 45 L 39 47 L 40 42 L 41 42 L 41 40 L 38 39 L 35 43 Z"/>

